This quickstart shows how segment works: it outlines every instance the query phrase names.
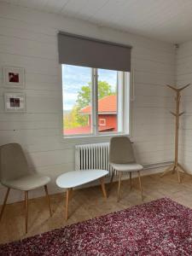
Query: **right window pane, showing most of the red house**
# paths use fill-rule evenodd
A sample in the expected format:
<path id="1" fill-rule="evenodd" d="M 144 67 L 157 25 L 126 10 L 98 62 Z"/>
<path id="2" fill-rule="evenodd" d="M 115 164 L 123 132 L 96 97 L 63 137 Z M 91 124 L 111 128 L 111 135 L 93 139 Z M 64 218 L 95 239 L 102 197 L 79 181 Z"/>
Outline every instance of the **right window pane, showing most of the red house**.
<path id="1" fill-rule="evenodd" d="M 122 131 L 119 116 L 119 72 L 98 69 L 98 131 Z M 120 103 L 121 104 L 121 103 Z M 122 114 L 123 109 L 121 109 Z"/>

